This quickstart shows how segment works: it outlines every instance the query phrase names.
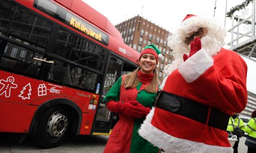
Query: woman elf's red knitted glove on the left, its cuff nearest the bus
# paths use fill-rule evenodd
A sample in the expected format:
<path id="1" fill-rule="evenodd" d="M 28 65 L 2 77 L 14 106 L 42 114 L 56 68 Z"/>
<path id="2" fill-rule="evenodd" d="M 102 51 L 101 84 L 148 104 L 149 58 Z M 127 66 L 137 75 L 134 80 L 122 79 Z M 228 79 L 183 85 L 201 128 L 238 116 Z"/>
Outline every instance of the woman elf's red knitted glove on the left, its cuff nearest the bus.
<path id="1" fill-rule="evenodd" d="M 107 103 L 107 108 L 110 111 L 124 114 L 127 117 L 130 118 L 141 118 L 142 117 L 142 109 L 140 107 L 135 106 L 138 103 L 138 101 L 109 101 Z"/>

